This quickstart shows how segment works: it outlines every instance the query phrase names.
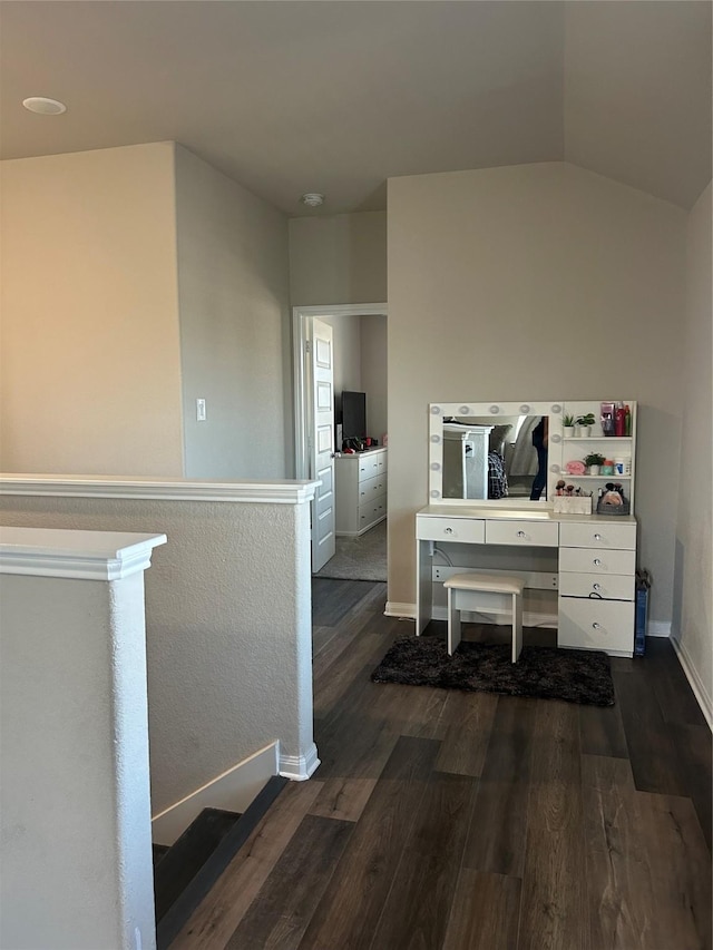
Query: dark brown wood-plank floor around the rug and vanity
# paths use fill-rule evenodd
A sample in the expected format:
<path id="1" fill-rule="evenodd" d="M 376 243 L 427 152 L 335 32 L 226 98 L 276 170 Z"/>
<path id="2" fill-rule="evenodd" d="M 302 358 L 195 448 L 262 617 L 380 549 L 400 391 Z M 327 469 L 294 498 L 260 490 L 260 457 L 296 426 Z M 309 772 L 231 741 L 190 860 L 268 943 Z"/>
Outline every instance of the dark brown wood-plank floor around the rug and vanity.
<path id="1" fill-rule="evenodd" d="M 378 685 L 412 624 L 313 590 L 322 765 L 173 947 L 710 950 L 711 733 L 667 640 L 612 660 L 609 708 Z"/>

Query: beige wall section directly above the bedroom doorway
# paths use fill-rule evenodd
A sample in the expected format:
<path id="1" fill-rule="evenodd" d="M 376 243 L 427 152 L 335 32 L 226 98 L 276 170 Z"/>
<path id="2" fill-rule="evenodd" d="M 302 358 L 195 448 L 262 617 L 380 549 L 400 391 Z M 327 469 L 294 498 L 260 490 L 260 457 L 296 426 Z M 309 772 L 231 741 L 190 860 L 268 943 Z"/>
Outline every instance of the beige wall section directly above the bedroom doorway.
<path id="1" fill-rule="evenodd" d="M 385 301 L 385 212 L 292 218 L 290 296 L 293 306 Z"/>

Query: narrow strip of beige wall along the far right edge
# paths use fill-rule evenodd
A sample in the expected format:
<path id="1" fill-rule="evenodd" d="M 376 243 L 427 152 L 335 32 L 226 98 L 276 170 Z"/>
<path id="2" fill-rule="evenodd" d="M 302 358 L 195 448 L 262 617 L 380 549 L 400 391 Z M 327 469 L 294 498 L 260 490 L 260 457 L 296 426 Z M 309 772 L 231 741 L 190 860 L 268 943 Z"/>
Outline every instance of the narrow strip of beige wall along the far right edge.
<path id="1" fill-rule="evenodd" d="M 673 636 L 699 677 L 709 709 L 713 697 L 713 560 L 711 535 L 711 185 L 688 215 L 684 407 L 681 439 L 676 599 Z"/>

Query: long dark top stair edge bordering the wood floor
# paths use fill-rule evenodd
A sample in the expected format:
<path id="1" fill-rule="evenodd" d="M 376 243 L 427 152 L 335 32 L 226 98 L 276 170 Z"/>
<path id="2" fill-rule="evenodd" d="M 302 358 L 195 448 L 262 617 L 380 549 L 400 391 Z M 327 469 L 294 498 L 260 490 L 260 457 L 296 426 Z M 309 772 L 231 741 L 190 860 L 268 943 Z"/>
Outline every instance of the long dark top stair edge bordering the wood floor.
<path id="1" fill-rule="evenodd" d="M 218 843 L 213 854 L 209 855 L 205 864 L 188 882 L 183 893 L 168 908 L 165 917 L 159 919 L 157 915 L 156 947 L 158 950 L 166 950 L 175 940 L 180 928 L 218 880 L 223 871 L 225 871 L 242 845 L 247 841 L 277 795 L 289 784 L 289 778 L 277 775 L 273 775 L 267 781 L 264 789 L 258 792 L 255 800 L 245 809 L 245 814 L 241 815 L 240 820 L 233 824 L 233 827 L 229 829 L 227 834 Z M 165 858 L 164 861 L 166 860 Z"/>

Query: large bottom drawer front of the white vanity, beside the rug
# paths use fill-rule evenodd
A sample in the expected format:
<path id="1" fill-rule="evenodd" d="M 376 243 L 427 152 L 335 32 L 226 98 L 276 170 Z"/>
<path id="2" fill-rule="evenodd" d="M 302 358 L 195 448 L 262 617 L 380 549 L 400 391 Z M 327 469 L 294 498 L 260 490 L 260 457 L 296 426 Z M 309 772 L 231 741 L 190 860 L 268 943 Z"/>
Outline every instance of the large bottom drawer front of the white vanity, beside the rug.
<path id="1" fill-rule="evenodd" d="M 634 601 L 560 597 L 557 646 L 633 653 Z"/>

